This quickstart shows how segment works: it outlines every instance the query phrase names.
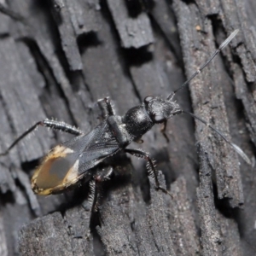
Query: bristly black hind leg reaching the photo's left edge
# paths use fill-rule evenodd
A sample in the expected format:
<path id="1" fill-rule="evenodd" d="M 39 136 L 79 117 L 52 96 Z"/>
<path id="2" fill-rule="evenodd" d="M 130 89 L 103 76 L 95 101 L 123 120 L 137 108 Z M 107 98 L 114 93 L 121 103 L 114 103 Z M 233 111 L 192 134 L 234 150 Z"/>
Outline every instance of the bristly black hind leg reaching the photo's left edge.
<path id="1" fill-rule="evenodd" d="M 71 133 L 71 134 L 76 135 L 76 136 L 79 136 L 79 135 L 83 134 L 82 131 L 79 131 L 79 129 L 73 127 L 72 125 L 68 125 L 64 122 L 58 122 L 58 121 L 55 121 L 55 120 L 45 119 L 44 121 L 39 121 L 35 125 L 32 125 L 27 131 L 22 133 L 20 135 L 20 137 L 17 137 L 15 139 L 15 141 L 9 146 L 9 148 L 7 148 L 3 153 L 1 153 L 0 156 L 9 154 L 10 149 L 14 148 L 15 145 L 17 143 L 19 143 L 24 137 L 26 137 L 32 131 L 37 129 L 39 125 L 44 126 L 44 127 L 49 127 L 50 129 L 53 129 L 53 130 L 65 131 L 65 132 Z"/>

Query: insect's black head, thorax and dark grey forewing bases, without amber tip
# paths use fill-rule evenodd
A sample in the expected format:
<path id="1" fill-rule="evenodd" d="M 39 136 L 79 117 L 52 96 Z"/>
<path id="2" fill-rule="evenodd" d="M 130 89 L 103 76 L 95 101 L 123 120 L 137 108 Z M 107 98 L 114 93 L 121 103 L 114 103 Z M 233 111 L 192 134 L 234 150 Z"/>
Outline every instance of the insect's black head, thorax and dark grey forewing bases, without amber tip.
<path id="1" fill-rule="evenodd" d="M 154 119 L 156 113 L 161 120 Z M 106 119 L 90 133 L 75 137 L 63 146 L 79 153 L 81 174 L 125 149 L 132 141 L 137 141 L 153 125 L 162 123 L 177 113 L 181 111 L 176 103 L 160 97 L 150 97 L 150 101 L 129 109 L 124 116 L 107 114 Z"/>

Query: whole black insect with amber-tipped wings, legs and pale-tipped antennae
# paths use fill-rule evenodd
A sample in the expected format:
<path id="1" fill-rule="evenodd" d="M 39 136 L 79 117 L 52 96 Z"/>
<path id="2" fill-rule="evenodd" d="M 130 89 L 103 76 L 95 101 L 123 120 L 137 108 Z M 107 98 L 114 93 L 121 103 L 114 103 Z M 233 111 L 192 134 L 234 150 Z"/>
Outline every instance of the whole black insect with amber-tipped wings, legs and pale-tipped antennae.
<path id="1" fill-rule="evenodd" d="M 143 134 L 149 131 L 155 124 L 164 124 L 162 132 L 166 136 L 165 130 L 167 120 L 174 115 L 187 113 L 173 100 L 177 91 L 189 84 L 191 79 L 194 79 L 195 76 L 200 73 L 216 55 L 218 55 L 220 50 L 224 49 L 224 47 L 230 43 L 237 32 L 238 30 L 232 32 L 230 37 L 219 46 L 209 60 L 182 86 L 167 96 L 166 100 L 162 99 L 160 96 L 146 96 L 143 104 L 129 109 L 124 116 L 119 116 L 114 113 L 110 99 L 106 97 L 102 100 L 106 108 L 106 119 L 88 134 L 84 135 L 79 129 L 63 122 L 45 119 L 24 132 L 3 154 L 0 155 L 8 154 L 9 150 L 13 148 L 15 144 L 19 143 L 27 134 L 35 130 L 38 125 L 42 125 L 55 130 L 66 131 L 76 137 L 66 143 L 55 146 L 55 148 L 49 151 L 49 154 L 45 156 L 42 164 L 38 166 L 36 172 L 32 176 L 32 190 L 36 194 L 50 195 L 60 193 L 71 185 L 78 183 L 81 178 L 84 178 L 87 181 L 92 179 L 94 187 L 92 210 L 95 211 L 98 201 L 98 189 L 96 188 L 98 188 L 104 180 L 110 177 L 113 169 L 109 168 L 102 172 L 96 172 L 93 167 L 97 166 L 103 160 L 113 156 L 113 154 L 117 154 L 121 150 L 137 156 L 138 158 L 147 160 L 148 174 L 154 177 L 155 188 L 168 193 L 166 189 L 160 187 L 154 160 L 152 160 L 150 154 L 141 149 L 131 149 L 126 147 L 132 141 L 140 141 Z M 219 136 L 223 137 L 224 141 L 229 143 L 244 160 L 248 163 L 250 162 L 241 148 L 230 143 L 220 131 L 212 125 L 207 124 L 205 120 L 195 116 L 195 114 L 189 114 L 209 126 L 213 131 L 216 131 Z"/>

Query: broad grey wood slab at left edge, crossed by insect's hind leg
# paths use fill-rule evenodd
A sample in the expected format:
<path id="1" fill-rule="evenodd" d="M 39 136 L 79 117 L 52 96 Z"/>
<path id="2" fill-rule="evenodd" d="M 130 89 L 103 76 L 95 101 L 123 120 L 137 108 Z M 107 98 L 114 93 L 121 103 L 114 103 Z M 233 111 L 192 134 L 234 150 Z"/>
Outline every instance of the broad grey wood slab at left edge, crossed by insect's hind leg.
<path id="1" fill-rule="evenodd" d="M 0 58 L 4 63 L 0 69 L 0 76 L 4 78 L 0 81 L 1 100 L 6 114 L 3 119 L 8 119 L 9 129 L 17 137 L 21 132 L 26 131 L 29 126 L 34 125 L 35 120 L 44 119 L 45 115 L 38 101 L 37 91 L 30 74 L 26 72 L 25 66 L 22 64 L 19 45 L 15 44 L 13 38 L 3 38 L 0 44 Z M 24 51 L 24 49 L 22 50 Z M 25 53 L 23 52 L 23 54 Z M 36 67 L 34 67 L 35 70 Z M 27 91 L 30 91 L 31 94 L 28 95 Z M 3 124 L 7 123 L 4 120 L 2 122 Z M 28 143 L 26 147 L 22 146 L 22 143 L 17 146 L 20 149 L 21 160 L 38 159 L 44 154 L 46 148 L 48 148 L 50 133 L 44 132 L 43 134 L 44 139 L 36 137 L 34 142 Z M 1 133 L 1 137 L 3 137 L 2 151 L 4 151 L 12 139 L 6 137 L 4 133 Z M 13 162 L 17 164 L 19 157 L 16 156 Z"/>

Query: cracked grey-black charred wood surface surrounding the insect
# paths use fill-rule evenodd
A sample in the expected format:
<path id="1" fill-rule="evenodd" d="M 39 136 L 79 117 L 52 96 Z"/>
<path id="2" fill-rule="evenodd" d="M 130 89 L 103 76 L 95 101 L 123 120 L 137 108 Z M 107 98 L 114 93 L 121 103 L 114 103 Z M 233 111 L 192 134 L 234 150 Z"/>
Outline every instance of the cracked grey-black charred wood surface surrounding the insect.
<path id="1" fill-rule="evenodd" d="M 45 118 L 90 131 L 104 96 L 119 114 L 145 96 L 166 97 L 238 28 L 177 102 L 253 165 L 205 125 L 176 116 L 166 129 L 170 143 L 156 125 L 143 144 L 129 146 L 153 155 L 173 198 L 154 183 L 149 194 L 146 163 L 118 155 L 99 226 L 88 184 L 62 195 L 32 193 L 39 160 L 69 138 L 39 128 L 0 160 L 0 255 L 255 255 L 255 9 L 254 0 L 1 1 L 2 151 Z"/>

